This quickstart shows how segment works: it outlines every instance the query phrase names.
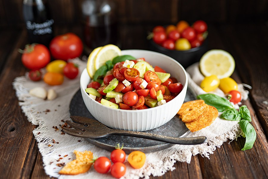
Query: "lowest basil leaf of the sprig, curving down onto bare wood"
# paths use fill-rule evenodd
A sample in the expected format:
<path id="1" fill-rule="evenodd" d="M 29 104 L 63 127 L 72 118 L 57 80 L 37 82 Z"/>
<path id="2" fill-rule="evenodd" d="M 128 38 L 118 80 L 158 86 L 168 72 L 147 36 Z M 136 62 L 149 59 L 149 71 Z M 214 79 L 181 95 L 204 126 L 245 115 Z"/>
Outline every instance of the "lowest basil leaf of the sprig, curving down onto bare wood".
<path id="1" fill-rule="evenodd" d="M 256 131 L 247 120 L 242 119 L 239 121 L 239 125 L 246 136 L 245 145 L 241 150 L 251 149 L 256 140 Z"/>

